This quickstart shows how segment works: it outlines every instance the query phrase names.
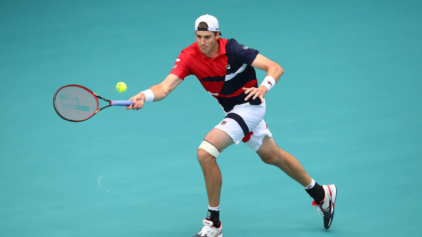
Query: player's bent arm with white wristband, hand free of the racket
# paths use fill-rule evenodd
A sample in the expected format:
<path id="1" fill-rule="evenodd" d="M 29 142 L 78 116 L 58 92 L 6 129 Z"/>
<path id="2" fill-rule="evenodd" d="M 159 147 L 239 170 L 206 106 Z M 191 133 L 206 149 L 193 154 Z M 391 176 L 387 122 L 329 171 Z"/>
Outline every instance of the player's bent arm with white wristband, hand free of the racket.
<path id="1" fill-rule="evenodd" d="M 267 75 L 258 88 L 243 88 L 243 91 L 245 91 L 246 94 L 249 93 L 249 95 L 246 96 L 245 101 L 251 98 L 251 96 L 254 96 L 252 99 L 259 97 L 263 103 L 265 93 L 273 88 L 273 86 L 279 81 L 281 75 L 284 73 L 284 69 L 279 64 L 259 53 L 252 62 L 251 66 L 267 72 Z"/>

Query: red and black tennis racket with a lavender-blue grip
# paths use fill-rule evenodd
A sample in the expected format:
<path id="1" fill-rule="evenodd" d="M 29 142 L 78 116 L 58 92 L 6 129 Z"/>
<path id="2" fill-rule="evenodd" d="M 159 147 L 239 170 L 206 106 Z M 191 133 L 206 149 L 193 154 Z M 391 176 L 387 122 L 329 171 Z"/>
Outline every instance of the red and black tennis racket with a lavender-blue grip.
<path id="1" fill-rule="evenodd" d="M 98 109 L 98 99 L 108 105 Z M 65 85 L 54 93 L 53 105 L 57 115 L 70 122 L 85 121 L 110 106 L 130 106 L 133 101 L 111 101 L 81 85 Z"/>

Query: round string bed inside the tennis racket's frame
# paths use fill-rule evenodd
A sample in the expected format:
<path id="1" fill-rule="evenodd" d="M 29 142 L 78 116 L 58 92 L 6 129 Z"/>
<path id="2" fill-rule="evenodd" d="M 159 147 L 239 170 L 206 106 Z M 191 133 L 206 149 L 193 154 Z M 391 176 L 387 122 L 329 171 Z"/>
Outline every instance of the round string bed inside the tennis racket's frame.
<path id="1" fill-rule="evenodd" d="M 84 88 L 67 86 L 57 92 L 54 103 L 57 112 L 70 120 L 84 120 L 98 109 L 96 97 Z"/>

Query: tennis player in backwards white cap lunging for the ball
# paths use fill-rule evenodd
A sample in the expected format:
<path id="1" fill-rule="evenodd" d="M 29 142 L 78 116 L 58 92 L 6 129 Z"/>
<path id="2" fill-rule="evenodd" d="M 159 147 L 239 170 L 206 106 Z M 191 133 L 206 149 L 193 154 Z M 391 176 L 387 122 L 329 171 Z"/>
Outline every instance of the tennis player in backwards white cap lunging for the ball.
<path id="1" fill-rule="evenodd" d="M 257 152 L 262 161 L 279 167 L 301 184 L 314 199 L 312 205 L 322 214 L 324 227 L 328 229 L 334 216 L 335 185 L 320 186 L 308 176 L 295 157 L 276 145 L 263 119 L 264 96 L 276 85 L 284 70 L 257 50 L 234 39 L 220 38 L 220 35 L 214 16 L 200 16 L 195 21 L 196 43 L 181 51 L 162 83 L 133 96 L 130 98 L 133 104 L 126 107 L 138 110 L 144 103 L 160 101 L 185 77 L 195 75 L 224 110 L 225 117 L 197 149 L 208 194 L 208 212 L 195 237 L 222 237 L 222 222 L 219 220 L 222 176 L 216 158 L 225 148 L 240 141 Z M 259 86 L 254 68 L 267 72 Z"/>

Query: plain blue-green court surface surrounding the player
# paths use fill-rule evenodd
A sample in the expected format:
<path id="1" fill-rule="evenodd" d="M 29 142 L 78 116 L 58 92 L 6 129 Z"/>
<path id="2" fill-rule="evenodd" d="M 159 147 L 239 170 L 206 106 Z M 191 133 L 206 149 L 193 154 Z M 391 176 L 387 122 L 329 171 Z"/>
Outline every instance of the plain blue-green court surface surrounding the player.
<path id="1" fill-rule="evenodd" d="M 224 236 L 422 236 L 421 11 L 417 0 L 1 1 L 0 236 L 199 231 L 196 149 L 224 115 L 194 76 L 163 101 L 85 122 L 52 102 L 70 83 L 113 100 L 160 83 L 207 13 L 284 68 L 265 120 L 312 178 L 338 187 L 325 231 L 302 186 L 230 146 L 218 158 Z"/>

